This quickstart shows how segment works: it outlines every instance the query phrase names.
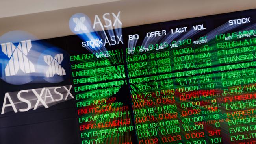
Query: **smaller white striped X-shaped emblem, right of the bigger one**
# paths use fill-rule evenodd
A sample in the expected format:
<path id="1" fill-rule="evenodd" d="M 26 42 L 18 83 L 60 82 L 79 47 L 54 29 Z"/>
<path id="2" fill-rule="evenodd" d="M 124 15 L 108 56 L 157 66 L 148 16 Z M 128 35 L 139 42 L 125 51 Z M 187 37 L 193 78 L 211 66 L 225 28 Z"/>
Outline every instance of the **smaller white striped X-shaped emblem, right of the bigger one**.
<path id="1" fill-rule="evenodd" d="M 51 55 L 44 56 L 45 63 L 49 65 L 48 70 L 46 71 L 46 77 L 53 77 L 55 74 L 59 76 L 66 75 L 66 71 L 61 67 L 61 62 L 63 61 L 63 54 L 56 54 L 53 58 Z"/>

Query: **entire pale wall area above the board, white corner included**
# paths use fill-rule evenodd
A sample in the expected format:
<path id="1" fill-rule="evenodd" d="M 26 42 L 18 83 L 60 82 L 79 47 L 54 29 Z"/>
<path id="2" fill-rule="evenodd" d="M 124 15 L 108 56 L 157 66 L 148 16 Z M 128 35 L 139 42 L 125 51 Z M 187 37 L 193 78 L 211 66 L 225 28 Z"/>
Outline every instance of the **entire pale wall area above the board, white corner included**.
<path id="1" fill-rule="evenodd" d="M 69 19 L 75 13 L 92 21 L 121 11 L 124 28 L 255 8 L 256 0 L 0 0 L 0 36 L 14 30 L 38 39 L 74 35 Z"/>

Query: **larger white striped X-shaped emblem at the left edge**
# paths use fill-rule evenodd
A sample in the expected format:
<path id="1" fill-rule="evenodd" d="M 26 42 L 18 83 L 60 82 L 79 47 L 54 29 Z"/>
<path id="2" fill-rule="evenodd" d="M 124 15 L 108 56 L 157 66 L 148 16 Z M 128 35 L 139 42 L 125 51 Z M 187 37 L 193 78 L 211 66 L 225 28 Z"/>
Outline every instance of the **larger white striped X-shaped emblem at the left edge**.
<path id="1" fill-rule="evenodd" d="M 13 43 L 2 43 L 2 52 L 9 58 L 9 63 L 6 65 L 5 76 L 14 76 L 18 70 L 28 74 L 35 72 L 35 66 L 27 58 L 28 52 L 32 45 L 31 40 L 20 41 L 16 47 Z"/>

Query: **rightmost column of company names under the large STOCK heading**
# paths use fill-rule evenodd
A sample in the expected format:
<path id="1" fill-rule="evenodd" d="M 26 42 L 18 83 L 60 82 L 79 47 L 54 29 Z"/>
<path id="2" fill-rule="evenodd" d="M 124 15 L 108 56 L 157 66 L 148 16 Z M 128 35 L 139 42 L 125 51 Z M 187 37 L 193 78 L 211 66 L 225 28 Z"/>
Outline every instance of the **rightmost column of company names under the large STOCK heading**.
<path id="1" fill-rule="evenodd" d="M 228 134 L 227 142 L 234 144 L 256 143 L 255 23 L 255 15 L 228 18 L 220 26 L 227 30 L 217 33 L 213 40 L 222 96 L 214 98 L 218 105 L 212 110 L 220 111 L 221 131 Z"/>

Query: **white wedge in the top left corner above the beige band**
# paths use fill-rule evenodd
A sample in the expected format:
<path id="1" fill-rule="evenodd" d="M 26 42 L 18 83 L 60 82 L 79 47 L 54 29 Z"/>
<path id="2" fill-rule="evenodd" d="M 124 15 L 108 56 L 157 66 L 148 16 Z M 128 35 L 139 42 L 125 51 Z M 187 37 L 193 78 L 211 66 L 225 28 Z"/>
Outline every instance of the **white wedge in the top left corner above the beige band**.
<path id="1" fill-rule="evenodd" d="M 0 18 L 120 0 L 0 0 Z"/>

